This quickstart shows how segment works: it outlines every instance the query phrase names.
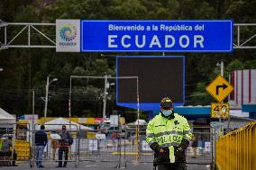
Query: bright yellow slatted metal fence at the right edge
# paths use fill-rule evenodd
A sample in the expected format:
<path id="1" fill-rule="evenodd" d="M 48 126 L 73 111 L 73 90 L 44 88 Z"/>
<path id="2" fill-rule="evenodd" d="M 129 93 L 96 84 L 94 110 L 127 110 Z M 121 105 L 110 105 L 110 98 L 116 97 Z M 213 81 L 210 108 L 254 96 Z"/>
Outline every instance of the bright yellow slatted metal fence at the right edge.
<path id="1" fill-rule="evenodd" d="M 256 169 L 256 121 L 234 130 L 216 142 L 216 160 L 220 170 Z"/>

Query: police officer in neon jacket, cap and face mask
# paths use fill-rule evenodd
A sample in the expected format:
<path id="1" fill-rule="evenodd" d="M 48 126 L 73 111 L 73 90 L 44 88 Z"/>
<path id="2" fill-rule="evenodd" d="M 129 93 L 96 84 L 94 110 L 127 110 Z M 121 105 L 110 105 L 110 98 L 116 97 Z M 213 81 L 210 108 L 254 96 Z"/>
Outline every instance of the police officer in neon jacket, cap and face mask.
<path id="1" fill-rule="evenodd" d="M 173 112 L 169 97 L 160 101 L 160 114 L 147 127 L 147 143 L 154 150 L 154 166 L 159 170 L 186 169 L 185 149 L 192 139 L 187 119 Z"/>

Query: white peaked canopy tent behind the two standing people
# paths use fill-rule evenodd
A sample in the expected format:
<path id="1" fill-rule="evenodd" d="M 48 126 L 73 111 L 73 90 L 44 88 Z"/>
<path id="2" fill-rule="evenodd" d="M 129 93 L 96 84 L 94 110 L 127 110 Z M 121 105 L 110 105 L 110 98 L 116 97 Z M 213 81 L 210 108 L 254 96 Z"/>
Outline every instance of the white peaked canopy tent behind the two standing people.
<path id="1" fill-rule="evenodd" d="M 44 124 L 45 130 L 61 130 L 62 125 L 66 125 L 67 130 L 92 130 L 87 126 L 80 125 L 74 121 L 69 122 L 69 120 L 64 118 L 58 118 Z"/>

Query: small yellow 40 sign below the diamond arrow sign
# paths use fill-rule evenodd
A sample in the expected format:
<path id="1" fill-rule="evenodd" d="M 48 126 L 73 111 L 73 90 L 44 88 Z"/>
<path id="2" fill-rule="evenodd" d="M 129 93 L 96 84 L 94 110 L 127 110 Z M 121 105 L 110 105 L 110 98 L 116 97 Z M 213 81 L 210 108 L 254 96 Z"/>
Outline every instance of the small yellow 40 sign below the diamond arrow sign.
<path id="1" fill-rule="evenodd" d="M 228 118 L 229 104 L 228 103 L 211 103 L 211 118 Z"/>

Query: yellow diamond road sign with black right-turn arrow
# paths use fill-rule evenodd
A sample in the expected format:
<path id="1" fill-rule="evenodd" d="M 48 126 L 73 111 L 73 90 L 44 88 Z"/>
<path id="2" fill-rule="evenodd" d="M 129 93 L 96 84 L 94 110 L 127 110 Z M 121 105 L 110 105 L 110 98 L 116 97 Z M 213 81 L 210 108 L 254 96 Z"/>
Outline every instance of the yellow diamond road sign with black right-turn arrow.
<path id="1" fill-rule="evenodd" d="M 233 86 L 223 76 L 218 75 L 210 85 L 206 86 L 206 91 L 220 103 L 233 92 Z"/>

